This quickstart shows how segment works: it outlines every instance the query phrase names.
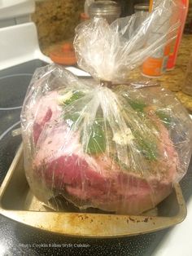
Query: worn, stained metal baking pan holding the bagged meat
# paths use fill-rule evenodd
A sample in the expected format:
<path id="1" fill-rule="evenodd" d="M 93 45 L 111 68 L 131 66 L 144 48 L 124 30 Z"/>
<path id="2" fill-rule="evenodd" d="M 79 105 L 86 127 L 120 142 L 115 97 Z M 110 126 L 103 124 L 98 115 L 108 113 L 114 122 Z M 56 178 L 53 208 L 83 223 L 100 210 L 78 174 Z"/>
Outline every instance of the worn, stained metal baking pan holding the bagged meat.
<path id="1" fill-rule="evenodd" d="M 20 146 L 0 188 L 0 213 L 20 223 L 67 236 L 118 237 L 155 232 L 180 223 L 186 216 L 179 184 L 155 210 L 141 216 L 55 212 L 33 196 L 24 174 Z"/>

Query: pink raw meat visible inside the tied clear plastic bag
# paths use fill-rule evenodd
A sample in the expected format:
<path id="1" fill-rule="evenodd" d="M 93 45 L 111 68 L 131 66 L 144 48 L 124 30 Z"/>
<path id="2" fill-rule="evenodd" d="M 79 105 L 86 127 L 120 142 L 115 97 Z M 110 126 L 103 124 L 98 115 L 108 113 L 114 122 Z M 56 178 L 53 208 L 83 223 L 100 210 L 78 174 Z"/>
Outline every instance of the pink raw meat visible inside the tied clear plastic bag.
<path id="1" fill-rule="evenodd" d="M 168 130 L 155 114 L 149 111 L 160 130 L 162 143 L 159 150 L 167 156 L 155 162 L 153 167 L 157 171 L 146 179 L 120 169 L 105 154 L 97 157 L 85 154 L 79 135 L 72 134 L 64 123 L 50 127 L 49 123 L 58 120 L 61 114 L 56 96 L 51 93 L 41 99 L 41 104 L 35 109 L 33 125 L 33 137 L 37 143 L 33 170 L 37 177 L 44 179 L 47 187 L 63 193 L 79 206 L 92 206 L 118 214 L 140 214 L 168 196 L 177 174 L 178 158 Z M 162 175 L 158 170 L 167 170 L 167 173 Z"/>

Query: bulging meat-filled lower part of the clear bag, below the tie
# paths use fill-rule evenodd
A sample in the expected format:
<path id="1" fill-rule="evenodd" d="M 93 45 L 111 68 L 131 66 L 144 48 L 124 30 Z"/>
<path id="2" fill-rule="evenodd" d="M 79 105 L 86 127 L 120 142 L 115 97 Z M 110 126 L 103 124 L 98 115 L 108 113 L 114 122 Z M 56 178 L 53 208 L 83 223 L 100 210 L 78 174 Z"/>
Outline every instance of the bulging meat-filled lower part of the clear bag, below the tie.
<path id="1" fill-rule="evenodd" d="M 50 88 L 38 90 L 39 101 L 33 91 L 22 112 L 25 170 L 41 201 L 59 210 L 62 196 L 81 210 L 139 214 L 168 196 L 191 153 L 191 123 L 172 94 L 71 82 L 55 65 L 41 72 Z"/>

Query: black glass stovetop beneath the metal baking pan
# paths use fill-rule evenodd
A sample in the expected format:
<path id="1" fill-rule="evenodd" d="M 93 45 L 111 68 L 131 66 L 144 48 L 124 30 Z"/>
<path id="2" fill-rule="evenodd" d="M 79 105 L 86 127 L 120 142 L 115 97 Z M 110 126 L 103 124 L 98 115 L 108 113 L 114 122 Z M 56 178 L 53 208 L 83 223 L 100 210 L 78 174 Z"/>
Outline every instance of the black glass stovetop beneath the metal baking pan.
<path id="1" fill-rule="evenodd" d="M 33 60 L 0 71 L 0 184 L 21 142 L 20 136 L 11 136 L 11 131 L 20 126 L 24 95 L 34 70 L 42 65 L 45 63 L 41 60 Z M 181 188 L 187 200 L 192 193 L 192 162 Z M 0 255 L 150 256 L 166 232 L 107 240 L 83 239 L 43 232 L 0 215 Z"/>

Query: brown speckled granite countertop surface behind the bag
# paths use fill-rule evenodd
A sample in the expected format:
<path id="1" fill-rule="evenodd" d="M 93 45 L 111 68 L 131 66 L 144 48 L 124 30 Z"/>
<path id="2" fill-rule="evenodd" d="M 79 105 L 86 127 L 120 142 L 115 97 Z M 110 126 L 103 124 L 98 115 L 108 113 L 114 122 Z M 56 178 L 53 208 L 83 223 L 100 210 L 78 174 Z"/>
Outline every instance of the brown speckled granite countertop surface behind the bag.
<path id="1" fill-rule="evenodd" d="M 50 51 L 52 51 L 55 46 L 61 45 L 62 43 L 63 42 L 58 42 L 47 47 L 42 47 L 41 51 L 43 51 L 44 54 L 49 55 Z M 192 35 L 185 34 L 181 40 L 176 67 L 171 71 L 164 73 L 162 77 L 158 79 L 152 79 L 154 81 L 160 82 L 161 85 L 165 88 L 172 90 L 172 92 L 177 96 L 177 99 L 179 99 L 185 108 L 187 108 L 190 112 L 192 112 L 192 96 L 185 95 L 185 93 L 181 91 L 181 88 L 185 79 L 185 71 L 189 62 L 191 49 Z M 131 77 L 136 77 L 139 80 L 141 80 L 141 78 L 143 79 L 141 73 L 138 71 L 133 73 Z"/>

